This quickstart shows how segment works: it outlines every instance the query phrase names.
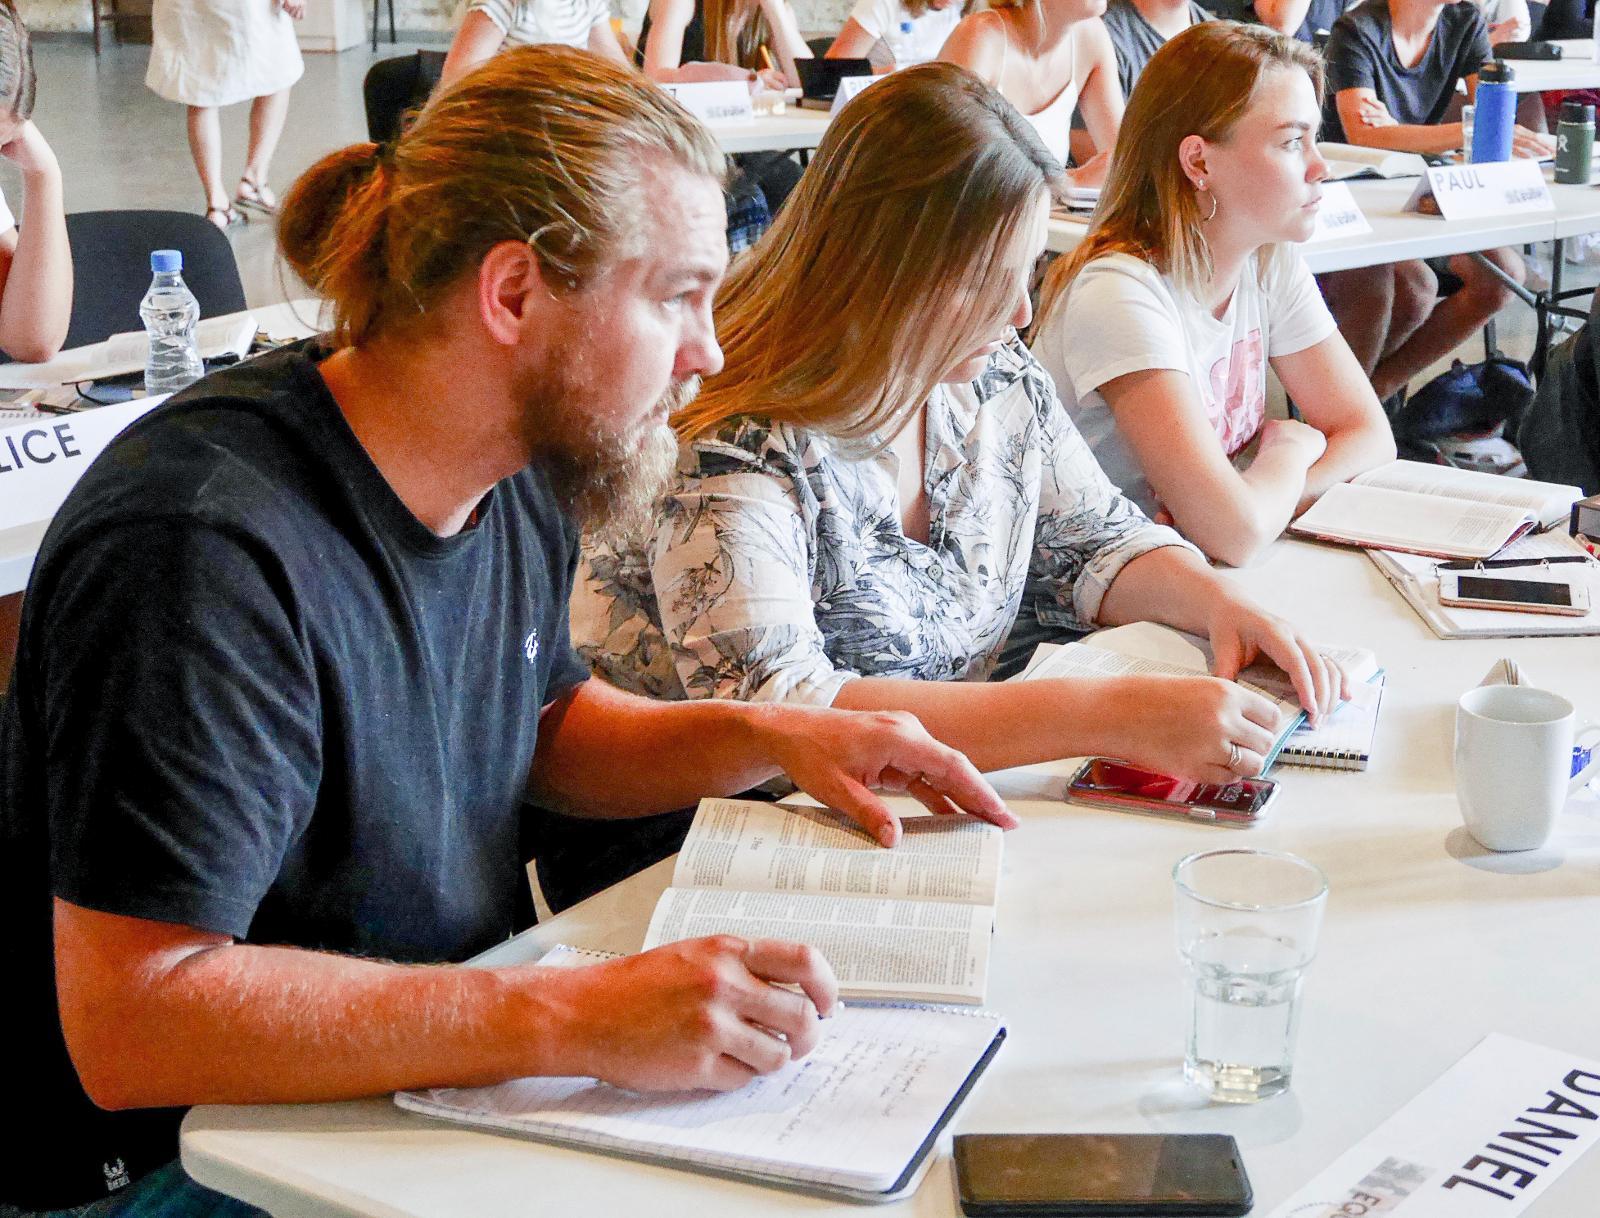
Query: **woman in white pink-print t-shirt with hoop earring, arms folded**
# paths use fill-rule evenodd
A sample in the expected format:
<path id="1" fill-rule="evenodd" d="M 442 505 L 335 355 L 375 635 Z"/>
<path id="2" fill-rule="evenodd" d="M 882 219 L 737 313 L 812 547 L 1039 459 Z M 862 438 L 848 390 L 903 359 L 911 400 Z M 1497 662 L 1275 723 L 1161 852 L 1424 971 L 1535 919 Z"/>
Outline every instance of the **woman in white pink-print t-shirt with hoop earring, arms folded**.
<path id="1" fill-rule="evenodd" d="M 1112 482 L 1235 565 L 1395 455 L 1294 248 L 1328 173 L 1320 91 L 1315 53 L 1259 26 L 1210 21 L 1157 51 L 1034 338 Z M 1304 423 L 1266 418 L 1267 363 Z"/>

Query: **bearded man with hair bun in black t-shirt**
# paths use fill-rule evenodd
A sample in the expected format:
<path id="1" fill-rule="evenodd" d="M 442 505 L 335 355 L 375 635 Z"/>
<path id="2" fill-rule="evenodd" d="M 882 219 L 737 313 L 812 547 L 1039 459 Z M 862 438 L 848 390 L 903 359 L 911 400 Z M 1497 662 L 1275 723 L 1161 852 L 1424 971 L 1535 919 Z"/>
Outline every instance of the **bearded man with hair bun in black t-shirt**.
<path id="1" fill-rule="evenodd" d="M 642 816 L 787 771 L 885 845 L 874 786 L 1014 823 L 914 719 L 650 703 L 573 655 L 579 523 L 651 509 L 722 363 L 720 174 L 632 69 L 509 51 L 285 200 L 333 331 L 74 490 L 0 723 L 0 1212 L 238 1212 L 173 1162 L 195 1103 L 731 1088 L 810 1050 L 837 989 L 797 944 L 418 967 L 514 930 L 525 799 Z"/>

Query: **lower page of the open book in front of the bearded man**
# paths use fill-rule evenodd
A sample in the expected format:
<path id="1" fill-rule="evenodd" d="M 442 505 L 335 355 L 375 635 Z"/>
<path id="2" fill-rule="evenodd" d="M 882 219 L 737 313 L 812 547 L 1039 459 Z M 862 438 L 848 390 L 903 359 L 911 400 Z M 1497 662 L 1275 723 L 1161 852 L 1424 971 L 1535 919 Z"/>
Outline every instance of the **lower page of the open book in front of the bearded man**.
<path id="1" fill-rule="evenodd" d="M 834 967 L 845 997 L 982 1002 L 994 909 L 952 901 L 667 888 L 645 951 L 704 935 L 794 940 Z"/>

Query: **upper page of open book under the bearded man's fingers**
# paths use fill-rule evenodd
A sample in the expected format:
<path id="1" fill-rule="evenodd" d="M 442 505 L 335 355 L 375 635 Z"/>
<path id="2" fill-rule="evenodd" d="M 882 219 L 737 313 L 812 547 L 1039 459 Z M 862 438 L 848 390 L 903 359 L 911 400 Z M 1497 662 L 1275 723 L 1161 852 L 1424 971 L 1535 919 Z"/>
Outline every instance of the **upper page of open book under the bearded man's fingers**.
<path id="1" fill-rule="evenodd" d="M 672 883 L 994 904 L 1003 834 L 970 816 L 907 816 L 885 850 L 832 808 L 702 799 Z"/>

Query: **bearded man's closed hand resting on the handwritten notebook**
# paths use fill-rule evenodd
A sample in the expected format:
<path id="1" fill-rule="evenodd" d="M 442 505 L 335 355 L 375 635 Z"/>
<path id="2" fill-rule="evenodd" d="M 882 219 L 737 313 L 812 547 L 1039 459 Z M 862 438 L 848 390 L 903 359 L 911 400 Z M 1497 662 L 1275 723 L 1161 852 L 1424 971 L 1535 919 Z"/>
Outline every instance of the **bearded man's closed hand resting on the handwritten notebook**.
<path id="1" fill-rule="evenodd" d="M 581 1045 L 576 1071 L 632 1092 L 744 1087 L 816 1048 L 838 1002 L 814 948 L 733 935 L 541 972 Z"/>

